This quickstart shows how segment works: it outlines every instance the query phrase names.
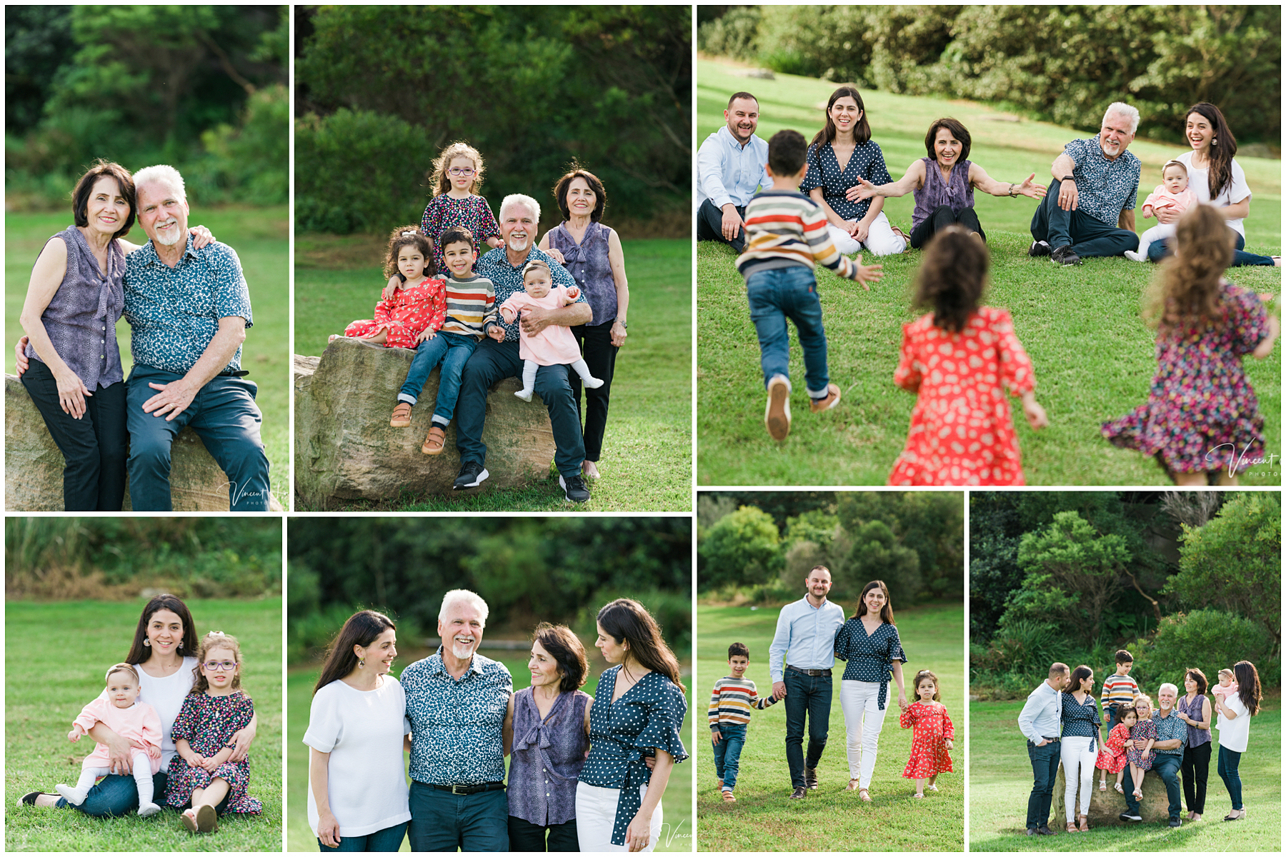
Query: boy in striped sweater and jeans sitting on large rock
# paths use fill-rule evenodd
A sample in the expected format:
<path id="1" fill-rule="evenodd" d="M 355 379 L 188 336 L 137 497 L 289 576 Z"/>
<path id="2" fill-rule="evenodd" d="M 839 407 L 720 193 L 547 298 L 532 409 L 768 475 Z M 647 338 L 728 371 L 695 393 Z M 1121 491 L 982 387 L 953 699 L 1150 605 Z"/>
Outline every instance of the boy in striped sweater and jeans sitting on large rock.
<path id="1" fill-rule="evenodd" d="M 414 406 L 424 389 L 428 374 L 433 366 L 442 364 L 437 379 L 437 403 L 433 418 L 419 451 L 424 455 L 441 455 L 446 443 L 446 427 L 455 414 L 455 400 L 460 393 L 460 373 L 473 355 L 484 335 L 493 339 L 503 337 L 503 328 L 495 320 L 495 285 L 491 280 L 473 272 L 477 253 L 473 252 L 473 235 L 467 229 L 449 229 L 439 238 L 439 245 L 446 260 L 446 320 L 436 334 L 426 330 L 418 339 L 415 358 L 406 373 L 406 382 L 397 393 L 397 407 L 403 402 Z M 394 428 L 410 425 L 410 409 L 405 412 L 394 411 L 390 420 Z"/>

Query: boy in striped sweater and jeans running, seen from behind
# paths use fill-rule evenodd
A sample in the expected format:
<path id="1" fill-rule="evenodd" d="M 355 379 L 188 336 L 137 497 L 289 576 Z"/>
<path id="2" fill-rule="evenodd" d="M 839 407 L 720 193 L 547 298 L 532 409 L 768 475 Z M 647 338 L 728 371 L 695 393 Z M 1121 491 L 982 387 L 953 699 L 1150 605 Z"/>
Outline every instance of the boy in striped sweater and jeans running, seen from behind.
<path id="1" fill-rule="evenodd" d="M 770 190 L 756 194 L 746 206 L 746 251 L 737 257 L 737 270 L 746 278 L 750 319 L 759 333 L 760 365 L 768 388 L 764 425 L 775 441 L 791 430 L 790 333 L 795 322 L 804 349 L 804 384 L 813 412 L 827 411 L 840 401 L 840 388 L 831 383 L 826 365 L 826 330 L 822 303 L 817 297 L 817 263 L 840 276 L 856 280 L 869 292 L 871 281 L 883 274 L 880 265 L 862 265 L 841 256 L 827 234 L 826 212 L 800 193 L 808 173 L 808 143 L 799 131 L 778 131 L 768 141 Z"/>

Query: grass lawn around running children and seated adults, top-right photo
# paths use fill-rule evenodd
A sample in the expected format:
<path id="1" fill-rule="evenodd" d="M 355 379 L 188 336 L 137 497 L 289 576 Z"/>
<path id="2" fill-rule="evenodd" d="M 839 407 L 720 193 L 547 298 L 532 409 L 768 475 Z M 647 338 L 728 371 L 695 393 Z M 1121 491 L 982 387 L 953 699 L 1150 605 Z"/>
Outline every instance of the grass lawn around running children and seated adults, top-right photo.
<path id="1" fill-rule="evenodd" d="M 778 75 L 773 81 L 747 81 L 725 66 L 698 63 L 698 128 L 705 136 L 721 123 L 728 95 L 748 86 L 760 98 L 761 136 L 782 127 L 811 134 L 822 121 L 833 85 Z M 754 84 L 752 86 L 750 84 Z M 955 116 L 974 135 L 970 155 L 1007 181 L 1037 173 L 1047 184 L 1049 163 L 1061 146 L 1084 134 L 1037 122 L 988 121 L 995 113 L 966 102 L 864 93 L 863 98 L 891 172 L 923 157 L 923 134 L 939 116 Z M 1159 164 L 1181 149 L 1136 141 L 1130 149 L 1145 162 L 1146 195 L 1159 177 Z M 1242 159 L 1238 158 L 1238 162 Z M 1281 179 L 1278 161 L 1246 158 L 1244 167 L 1256 189 L 1246 221 L 1255 252 L 1280 252 Z M 1150 172 L 1151 171 L 1151 172 Z M 1121 416 L 1147 398 L 1156 371 L 1155 337 L 1139 317 L 1143 289 L 1155 266 L 1124 258 L 1087 260 L 1056 269 L 1048 260 L 1026 256 L 1028 225 L 1035 202 L 976 195 L 988 233 L 992 284 L 985 302 L 1007 307 L 1019 339 L 1031 356 L 1037 398 L 1051 425 L 1033 432 L 1015 409 L 1024 472 L 1029 484 L 1166 484 L 1161 469 L 1142 455 L 1119 450 L 1098 433 L 1100 424 Z M 1142 199 L 1142 195 L 1139 197 Z M 912 198 L 890 199 L 885 211 L 909 231 Z M 1146 226 L 1143 226 L 1146 227 Z M 802 389 L 802 356 L 792 328 L 791 375 L 795 421 L 784 443 L 769 438 L 763 424 L 764 380 L 759 343 L 746 306 L 745 281 L 732 248 L 697 244 L 697 481 L 715 484 L 881 484 L 901 451 L 914 396 L 892 383 L 901 344 L 901 325 L 919 314 L 910 308 L 910 288 L 919 253 L 873 260 L 883 280 L 865 292 L 831 271 L 818 272 L 831 380 L 844 392 L 838 406 L 814 415 Z M 1256 292 L 1280 296 L 1276 269 L 1233 269 L 1229 279 Z M 1069 311 L 1070 310 L 1070 311 Z M 1277 308 L 1274 306 L 1273 312 Z M 1259 394 L 1265 418 L 1267 448 L 1281 446 L 1281 357 L 1246 358 L 1246 374 Z M 1015 400 L 1016 406 L 1016 400 Z M 1253 468 L 1244 486 L 1280 484 L 1276 466 Z"/>

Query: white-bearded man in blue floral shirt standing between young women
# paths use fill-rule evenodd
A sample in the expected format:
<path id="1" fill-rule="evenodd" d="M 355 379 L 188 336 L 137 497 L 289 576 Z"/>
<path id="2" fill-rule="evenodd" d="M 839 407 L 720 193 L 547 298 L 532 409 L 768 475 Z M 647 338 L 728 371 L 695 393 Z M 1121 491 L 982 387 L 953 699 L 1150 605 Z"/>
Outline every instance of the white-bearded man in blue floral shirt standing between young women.
<path id="1" fill-rule="evenodd" d="M 436 654 L 401 675 L 410 721 L 412 851 L 509 851 L 504 755 L 513 680 L 477 654 L 487 606 L 477 594 L 442 596 Z"/>

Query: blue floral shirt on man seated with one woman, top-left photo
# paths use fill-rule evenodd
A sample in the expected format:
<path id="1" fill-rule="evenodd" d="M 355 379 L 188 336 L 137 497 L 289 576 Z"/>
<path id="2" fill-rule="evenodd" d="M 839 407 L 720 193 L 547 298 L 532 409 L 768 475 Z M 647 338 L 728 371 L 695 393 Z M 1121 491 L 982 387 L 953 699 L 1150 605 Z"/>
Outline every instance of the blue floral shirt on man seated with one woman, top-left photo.
<path id="1" fill-rule="evenodd" d="M 186 374 L 231 316 L 253 324 L 249 288 L 237 252 L 215 242 L 188 249 L 170 267 L 152 242 L 125 257 L 125 319 L 134 365 Z M 240 370 L 240 348 L 222 371 Z"/>

